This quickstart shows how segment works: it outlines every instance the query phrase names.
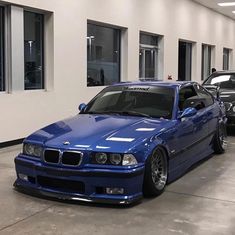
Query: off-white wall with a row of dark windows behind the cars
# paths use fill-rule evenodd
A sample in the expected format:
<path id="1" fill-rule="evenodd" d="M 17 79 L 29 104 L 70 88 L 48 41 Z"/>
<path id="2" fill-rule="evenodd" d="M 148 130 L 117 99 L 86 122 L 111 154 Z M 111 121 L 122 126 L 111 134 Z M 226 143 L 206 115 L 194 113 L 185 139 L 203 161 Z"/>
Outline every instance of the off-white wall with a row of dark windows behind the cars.
<path id="1" fill-rule="evenodd" d="M 235 48 L 234 21 L 190 0 L 14 0 L 9 3 L 53 12 L 46 29 L 51 31 L 47 40 L 52 40 L 46 59 L 54 59 L 54 70 L 53 66 L 47 68 L 46 91 L 0 93 L 0 143 L 25 137 L 50 122 L 76 114 L 79 103 L 89 101 L 101 90 L 101 87 L 86 87 L 87 20 L 127 29 L 122 40 L 125 42 L 121 72 L 124 81 L 138 79 L 139 31 L 164 35 L 164 78 L 172 75 L 177 79 L 179 39 L 196 43 L 192 78 L 197 81 L 201 79 L 202 43 L 215 45 L 217 70 L 222 69 L 223 47 Z"/>

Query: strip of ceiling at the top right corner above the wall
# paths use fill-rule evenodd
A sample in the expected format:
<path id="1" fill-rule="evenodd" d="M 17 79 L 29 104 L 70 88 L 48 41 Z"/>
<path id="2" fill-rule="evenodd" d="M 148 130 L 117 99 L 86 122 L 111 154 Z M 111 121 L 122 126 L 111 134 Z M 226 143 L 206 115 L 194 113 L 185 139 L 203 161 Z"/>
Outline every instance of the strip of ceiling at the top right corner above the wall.
<path id="1" fill-rule="evenodd" d="M 194 0 L 194 2 L 198 2 L 214 11 L 222 13 L 223 15 L 228 16 L 233 20 L 235 20 L 235 14 L 232 13 L 232 11 L 235 11 L 235 6 L 221 7 L 217 5 L 217 3 L 235 2 L 235 0 Z"/>

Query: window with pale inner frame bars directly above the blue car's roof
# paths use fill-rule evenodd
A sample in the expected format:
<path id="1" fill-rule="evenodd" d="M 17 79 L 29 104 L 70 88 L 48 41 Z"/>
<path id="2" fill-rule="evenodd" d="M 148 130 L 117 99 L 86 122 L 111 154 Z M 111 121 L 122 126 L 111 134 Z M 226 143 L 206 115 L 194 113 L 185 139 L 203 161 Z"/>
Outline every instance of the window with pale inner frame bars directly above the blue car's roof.
<path id="1" fill-rule="evenodd" d="M 139 77 L 158 78 L 159 36 L 140 33 Z"/>

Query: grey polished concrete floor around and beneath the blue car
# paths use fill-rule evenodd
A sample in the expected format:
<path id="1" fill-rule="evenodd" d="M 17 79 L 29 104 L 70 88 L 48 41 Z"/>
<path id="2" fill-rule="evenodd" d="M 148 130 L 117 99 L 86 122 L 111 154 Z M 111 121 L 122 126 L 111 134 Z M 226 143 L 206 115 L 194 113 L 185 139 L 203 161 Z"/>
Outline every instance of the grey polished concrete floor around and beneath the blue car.
<path id="1" fill-rule="evenodd" d="M 235 234 L 235 135 L 215 155 L 168 185 L 164 194 L 120 208 L 45 200 L 13 190 L 13 159 L 0 150 L 0 235 Z"/>

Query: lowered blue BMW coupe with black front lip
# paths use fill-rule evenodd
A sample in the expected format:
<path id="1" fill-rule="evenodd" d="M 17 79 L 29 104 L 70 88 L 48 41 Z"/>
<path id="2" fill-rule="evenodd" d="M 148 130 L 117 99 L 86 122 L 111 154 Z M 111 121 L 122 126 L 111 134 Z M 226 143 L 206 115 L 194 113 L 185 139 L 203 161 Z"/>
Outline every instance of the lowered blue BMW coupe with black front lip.
<path id="1" fill-rule="evenodd" d="M 224 105 L 195 82 L 120 83 L 79 109 L 24 140 L 18 190 L 129 204 L 226 149 Z"/>

